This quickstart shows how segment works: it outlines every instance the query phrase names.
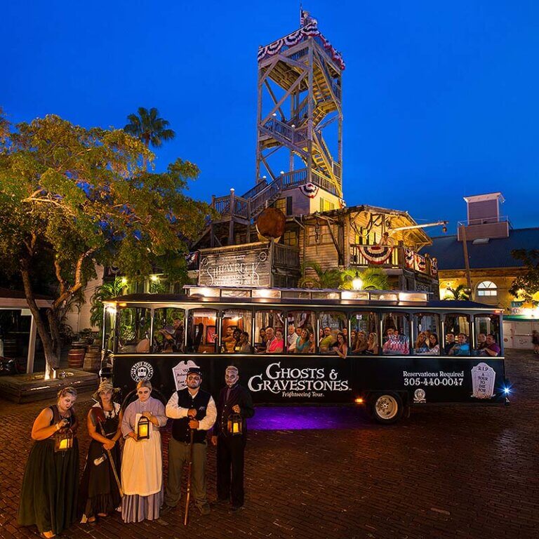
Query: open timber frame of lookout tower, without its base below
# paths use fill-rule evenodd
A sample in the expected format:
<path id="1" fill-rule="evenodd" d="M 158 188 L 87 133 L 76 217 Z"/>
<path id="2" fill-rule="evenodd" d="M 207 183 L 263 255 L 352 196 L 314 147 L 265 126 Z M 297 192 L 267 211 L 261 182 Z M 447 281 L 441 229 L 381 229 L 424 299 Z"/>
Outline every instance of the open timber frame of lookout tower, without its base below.
<path id="1" fill-rule="evenodd" d="M 340 53 L 305 11 L 300 29 L 260 47 L 258 184 L 278 182 L 281 189 L 313 184 L 342 199 L 343 69 Z"/>

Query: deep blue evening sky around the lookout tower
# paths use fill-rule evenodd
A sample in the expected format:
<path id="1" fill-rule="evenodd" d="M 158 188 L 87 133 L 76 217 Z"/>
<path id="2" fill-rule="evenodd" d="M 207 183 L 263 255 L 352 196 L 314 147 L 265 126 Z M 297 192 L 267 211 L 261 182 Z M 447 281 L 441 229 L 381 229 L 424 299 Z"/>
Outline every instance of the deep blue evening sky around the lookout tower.
<path id="1" fill-rule="evenodd" d="M 123 127 L 157 107 L 177 136 L 157 152 L 201 176 L 209 201 L 255 180 L 256 53 L 299 27 L 299 2 L 8 2 L 0 105 Z M 538 226 L 539 2 L 305 0 L 341 51 L 349 206 L 466 218 L 501 191 L 514 227 Z M 267 6 L 267 7 L 265 7 Z M 439 229 L 430 229 L 434 235 Z"/>

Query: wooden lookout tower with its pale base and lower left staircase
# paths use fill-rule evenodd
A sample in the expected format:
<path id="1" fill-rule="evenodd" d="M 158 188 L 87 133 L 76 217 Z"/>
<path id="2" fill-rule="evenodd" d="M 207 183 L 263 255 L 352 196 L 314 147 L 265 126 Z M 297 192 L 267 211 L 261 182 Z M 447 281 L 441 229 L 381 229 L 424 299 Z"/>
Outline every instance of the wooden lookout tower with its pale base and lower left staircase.
<path id="1" fill-rule="evenodd" d="M 341 80 L 345 62 L 301 12 L 300 28 L 258 49 L 255 186 L 213 197 L 219 214 L 198 244 L 241 244 L 256 238 L 265 208 L 287 216 L 345 206 L 342 199 Z M 252 238 L 252 237 L 253 238 Z"/>

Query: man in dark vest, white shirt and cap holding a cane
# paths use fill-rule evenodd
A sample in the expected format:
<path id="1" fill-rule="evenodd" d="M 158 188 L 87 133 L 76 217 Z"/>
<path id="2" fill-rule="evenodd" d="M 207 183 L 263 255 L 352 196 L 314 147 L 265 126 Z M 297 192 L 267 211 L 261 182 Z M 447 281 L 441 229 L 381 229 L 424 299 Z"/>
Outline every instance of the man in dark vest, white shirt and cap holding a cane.
<path id="1" fill-rule="evenodd" d="M 182 468 L 189 462 L 189 440 L 193 437 L 192 492 L 194 503 L 201 514 L 209 514 L 206 498 L 206 433 L 213 427 L 215 401 L 201 390 L 202 375 L 199 368 L 189 368 L 187 387 L 172 394 L 166 404 L 166 415 L 172 418 L 172 435 L 168 442 L 168 483 L 165 505 L 161 514 L 173 510 L 180 502 Z"/>

